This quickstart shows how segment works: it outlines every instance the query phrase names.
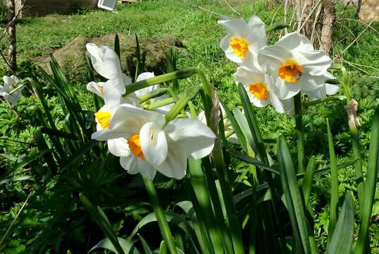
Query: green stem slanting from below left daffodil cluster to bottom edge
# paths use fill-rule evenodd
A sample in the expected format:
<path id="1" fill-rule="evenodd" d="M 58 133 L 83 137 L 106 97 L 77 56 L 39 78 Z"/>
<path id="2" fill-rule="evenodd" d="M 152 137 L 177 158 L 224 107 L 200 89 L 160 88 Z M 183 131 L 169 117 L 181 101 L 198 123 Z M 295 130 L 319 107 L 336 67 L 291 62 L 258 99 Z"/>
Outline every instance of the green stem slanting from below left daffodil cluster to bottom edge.
<path id="1" fill-rule="evenodd" d="M 177 254 L 173 234 L 171 234 L 170 227 L 168 226 L 166 220 L 166 215 L 164 214 L 161 204 L 159 203 L 158 194 L 156 193 L 154 184 L 151 180 L 145 178 L 144 176 L 142 176 L 142 179 L 144 179 L 144 185 L 146 187 L 147 193 L 149 193 L 151 205 L 153 205 L 154 212 L 156 214 L 156 219 L 158 220 L 159 224 L 159 229 L 161 229 L 163 240 L 167 244 L 170 253 Z"/>

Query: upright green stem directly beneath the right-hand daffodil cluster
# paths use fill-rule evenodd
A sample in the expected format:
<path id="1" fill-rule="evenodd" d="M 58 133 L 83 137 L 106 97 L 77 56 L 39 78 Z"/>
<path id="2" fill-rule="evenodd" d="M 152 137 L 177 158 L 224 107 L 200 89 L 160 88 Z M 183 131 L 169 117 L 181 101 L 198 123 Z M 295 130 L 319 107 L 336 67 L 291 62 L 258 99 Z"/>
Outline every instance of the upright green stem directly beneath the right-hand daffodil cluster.
<path id="1" fill-rule="evenodd" d="M 304 173 L 305 155 L 304 155 L 304 128 L 302 116 L 302 92 L 294 96 L 294 121 L 296 123 L 297 133 L 297 162 L 298 173 Z"/>

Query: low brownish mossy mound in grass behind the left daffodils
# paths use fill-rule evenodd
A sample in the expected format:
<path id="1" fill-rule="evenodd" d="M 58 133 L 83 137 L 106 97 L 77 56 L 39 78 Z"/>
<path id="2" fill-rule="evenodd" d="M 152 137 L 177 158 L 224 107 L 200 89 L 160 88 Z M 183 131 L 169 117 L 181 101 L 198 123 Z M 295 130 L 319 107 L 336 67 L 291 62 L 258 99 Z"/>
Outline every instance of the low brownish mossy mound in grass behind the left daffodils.
<path id="1" fill-rule="evenodd" d="M 135 36 L 118 35 L 120 38 L 121 68 L 129 75 L 135 73 Z M 113 49 L 115 35 L 105 37 L 85 38 L 77 37 L 61 49 L 57 49 L 53 54 L 64 73 L 70 80 L 87 80 L 87 67 L 85 63 L 85 44 L 91 42 L 97 45 L 107 45 Z M 168 49 L 170 45 L 177 49 L 184 48 L 182 42 L 170 35 L 163 35 L 159 38 L 139 37 L 139 47 L 141 54 L 145 58 L 147 71 L 154 71 L 156 75 L 165 73 L 168 64 Z M 51 73 L 49 67 L 50 57 L 41 59 L 40 66 L 45 71 Z M 134 77 L 131 77 L 134 78 Z"/>

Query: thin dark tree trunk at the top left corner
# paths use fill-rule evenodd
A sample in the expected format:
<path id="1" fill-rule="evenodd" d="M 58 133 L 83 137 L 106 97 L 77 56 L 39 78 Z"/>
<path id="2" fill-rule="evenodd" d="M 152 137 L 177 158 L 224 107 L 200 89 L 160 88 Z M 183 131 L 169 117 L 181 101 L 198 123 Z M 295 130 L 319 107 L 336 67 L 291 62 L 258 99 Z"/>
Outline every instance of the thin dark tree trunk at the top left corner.
<path id="1" fill-rule="evenodd" d="M 8 49 L 8 63 L 12 71 L 17 70 L 17 54 L 16 54 L 16 41 L 15 41 L 15 0 L 8 0 L 8 35 L 9 35 L 9 49 Z"/>

